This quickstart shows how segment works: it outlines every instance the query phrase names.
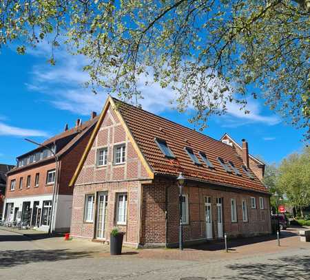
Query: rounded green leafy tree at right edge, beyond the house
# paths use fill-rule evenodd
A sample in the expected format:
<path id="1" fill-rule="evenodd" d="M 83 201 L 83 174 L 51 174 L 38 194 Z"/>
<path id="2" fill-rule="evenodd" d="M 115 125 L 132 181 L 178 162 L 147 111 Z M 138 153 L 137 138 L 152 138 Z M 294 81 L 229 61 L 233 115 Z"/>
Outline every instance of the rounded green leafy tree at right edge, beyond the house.
<path id="1" fill-rule="evenodd" d="M 282 160 L 278 172 L 276 186 L 303 217 L 302 208 L 310 204 L 310 147 L 304 148 L 301 154 L 293 153 Z"/>

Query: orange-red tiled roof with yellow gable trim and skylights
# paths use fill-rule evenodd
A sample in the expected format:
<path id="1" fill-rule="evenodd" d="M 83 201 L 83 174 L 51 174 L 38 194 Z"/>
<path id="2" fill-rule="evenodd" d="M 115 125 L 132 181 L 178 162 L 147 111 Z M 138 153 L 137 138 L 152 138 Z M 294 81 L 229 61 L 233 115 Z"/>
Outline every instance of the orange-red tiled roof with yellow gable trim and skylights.
<path id="1" fill-rule="evenodd" d="M 87 144 L 85 153 L 72 177 L 70 186 L 75 183 L 81 171 L 83 163 L 87 158 L 87 153 L 92 147 L 94 138 L 96 138 L 96 133 L 99 131 L 101 122 L 109 105 L 112 105 L 118 118 L 120 118 L 127 132 L 127 136 L 130 137 L 132 144 L 141 158 L 141 162 L 144 164 L 151 177 L 156 174 L 178 175 L 178 173 L 182 171 L 185 177 L 192 180 L 233 186 L 252 191 L 267 192 L 265 186 L 258 180 L 254 173 L 249 171 L 251 177 L 253 177 L 253 179 L 251 179 L 245 171 L 242 170 L 242 159 L 234 148 L 210 138 L 203 133 L 178 125 L 176 122 L 156 116 L 148 111 L 123 103 L 111 97 L 109 97 L 105 103 L 99 122 L 97 122 L 92 132 L 90 142 Z M 158 148 L 155 138 L 165 140 L 176 158 L 165 157 Z M 201 165 L 192 162 L 185 151 L 185 147 L 189 147 L 194 151 L 202 163 Z M 214 165 L 214 169 L 207 168 L 198 155 L 199 151 L 207 155 Z M 233 162 L 241 175 L 227 173 L 218 162 L 218 157 Z"/>

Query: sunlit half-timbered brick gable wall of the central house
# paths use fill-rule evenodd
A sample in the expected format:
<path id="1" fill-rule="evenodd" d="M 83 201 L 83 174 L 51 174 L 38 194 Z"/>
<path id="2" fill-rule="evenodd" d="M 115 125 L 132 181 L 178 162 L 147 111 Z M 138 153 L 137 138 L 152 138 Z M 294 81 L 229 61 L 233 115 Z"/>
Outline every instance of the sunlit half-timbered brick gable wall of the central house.
<path id="1" fill-rule="evenodd" d="M 126 147 L 125 163 L 115 165 L 113 162 L 114 145 L 121 143 L 124 143 Z M 97 167 L 97 150 L 103 147 L 107 148 L 107 165 Z M 99 192 L 106 191 L 108 194 L 108 213 L 105 239 L 110 239 L 110 231 L 113 227 L 118 227 L 126 233 L 125 242 L 137 244 L 140 180 L 145 180 L 148 177 L 149 175 L 138 158 L 138 154 L 127 137 L 120 120 L 112 108 L 107 109 L 101 128 L 74 185 L 71 235 L 89 239 L 96 237 L 96 209 L 94 210 L 94 222 L 84 222 L 85 195 L 93 193 L 96 197 Z M 116 194 L 121 192 L 128 195 L 127 223 L 125 226 L 117 225 L 115 222 Z"/>

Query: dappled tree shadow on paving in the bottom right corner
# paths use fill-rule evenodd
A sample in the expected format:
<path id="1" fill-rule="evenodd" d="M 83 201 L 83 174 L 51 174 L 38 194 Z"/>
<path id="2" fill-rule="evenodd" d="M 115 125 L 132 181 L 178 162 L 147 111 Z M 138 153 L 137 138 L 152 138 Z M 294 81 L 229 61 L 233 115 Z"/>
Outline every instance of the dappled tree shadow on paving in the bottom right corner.
<path id="1" fill-rule="evenodd" d="M 270 259 L 273 261 L 273 259 Z M 292 256 L 276 259 L 276 263 L 238 264 L 227 266 L 238 270 L 238 276 L 225 276 L 227 280 L 245 279 L 309 279 L 310 256 Z M 215 278 L 216 279 L 216 278 Z M 220 278 L 222 279 L 222 278 Z"/>

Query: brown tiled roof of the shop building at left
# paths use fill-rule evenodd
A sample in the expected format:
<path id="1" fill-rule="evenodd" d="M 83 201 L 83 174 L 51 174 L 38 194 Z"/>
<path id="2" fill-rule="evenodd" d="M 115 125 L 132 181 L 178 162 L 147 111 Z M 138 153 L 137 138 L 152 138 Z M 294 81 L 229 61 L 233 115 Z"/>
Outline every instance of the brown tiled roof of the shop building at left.
<path id="1" fill-rule="evenodd" d="M 45 146 L 48 146 L 48 144 L 51 144 L 53 142 L 58 142 L 61 140 L 64 141 L 64 145 L 61 147 L 59 151 L 57 151 L 56 156 L 59 158 L 70 151 L 72 147 L 78 142 L 83 136 L 90 131 L 90 129 L 94 128 L 94 125 L 96 125 L 96 122 L 99 120 L 99 116 L 93 118 L 92 120 L 87 120 L 82 125 L 79 125 L 79 127 L 74 127 L 68 131 L 64 131 L 62 133 L 57 134 L 56 136 L 53 136 L 52 138 L 49 138 L 48 140 L 45 140 L 42 144 Z M 38 151 L 39 149 L 42 149 L 42 147 L 38 147 L 37 149 L 34 149 L 32 151 L 29 151 L 28 153 L 24 153 L 23 155 L 20 155 L 18 158 L 22 158 L 25 155 L 28 155 L 30 153 L 34 153 L 34 151 Z M 37 162 L 33 162 L 31 164 L 21 166 L 21 167 L 15 167 L 14 169 L 11 169 L 9 173 L 14 173 L 16 171 L 20 171 L 22 169 L 29 169 L 31 166 L 35 166 L 37 164 L 40 164 L 42 162 L 48 162 L 50 160 L 54 160 L 54 156 L 50 156 L 48 158 L 44 158 L 42 160 L 39 160 Z"/>

